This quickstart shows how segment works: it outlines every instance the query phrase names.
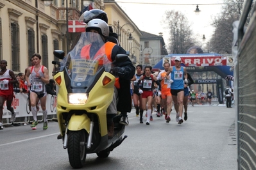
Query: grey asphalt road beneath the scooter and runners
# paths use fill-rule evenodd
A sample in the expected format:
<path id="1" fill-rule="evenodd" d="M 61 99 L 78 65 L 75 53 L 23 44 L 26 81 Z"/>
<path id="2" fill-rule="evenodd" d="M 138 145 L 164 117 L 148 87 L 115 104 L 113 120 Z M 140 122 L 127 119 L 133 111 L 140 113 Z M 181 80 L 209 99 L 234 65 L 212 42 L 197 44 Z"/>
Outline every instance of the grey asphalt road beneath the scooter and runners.
<path id="1" fill-rule="evenodd" d="M 225 105 L 189 106 L 188 120 L 178 125 L 175 112 L 140 124 L 134 109 L 126 127 L 128 138 L 108 158 L 87 155 L 82 169 L 237 169 L 235 109 Z M 58 124 L 0 130 L 0 169 L 72 169 L 67 150 L 57 140 Z"/>

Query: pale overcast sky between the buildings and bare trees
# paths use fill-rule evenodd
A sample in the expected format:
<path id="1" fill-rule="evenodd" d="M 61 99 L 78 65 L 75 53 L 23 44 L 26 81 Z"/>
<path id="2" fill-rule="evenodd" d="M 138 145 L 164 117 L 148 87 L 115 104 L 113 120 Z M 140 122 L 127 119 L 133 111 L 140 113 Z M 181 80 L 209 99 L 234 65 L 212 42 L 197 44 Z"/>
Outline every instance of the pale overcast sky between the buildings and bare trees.
<path id="1" fill-rule="evenodd" d="M 187 19 L 192 24 L 192 30 L 195 35 L 209 40 L 214 30 L 210 26 L 212 17 L 221 12 L 223 0 L 115 0 L 133 22 L 141 29 L 148 33 L 158 35 L 164 34 L 164 41 L 168 43 L 168 30 L 163 22 L 166 11 L 178 10 L 185 14 Z M 124 3 L 130 2 L 130 3 Z M 150 4 L 153 3 L 153 4 Z M 155 4 L 158 3 L 158 4 Z M 185 5 L 182 5 L 185 4 Z M 199 4 L 201 10 L 199 15 L 196 15 L 196 4 Z"/>

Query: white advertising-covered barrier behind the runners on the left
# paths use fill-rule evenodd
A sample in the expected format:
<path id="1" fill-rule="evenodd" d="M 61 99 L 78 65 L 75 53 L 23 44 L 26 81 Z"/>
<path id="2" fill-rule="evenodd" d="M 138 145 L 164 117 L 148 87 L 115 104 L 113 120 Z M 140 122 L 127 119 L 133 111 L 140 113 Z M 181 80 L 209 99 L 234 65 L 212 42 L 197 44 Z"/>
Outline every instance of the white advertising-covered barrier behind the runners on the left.
<path id="1" fill-rule="evenodd" d="M 15 93 L 13 98 L 12 107 L 16 112 L 16 120 L 14 123 L 29 123 L 33 121 L 33 116 L 29 108 L 28 94 L 26 93 Z M 38 103 L 39 111 L 37 112 L 37 120 L 42 121 L 42 108 L 40 102 Z M 46 100 L 47 119 L 51 120 L 56 118 L 56 96 L 47 95 Z M 3 125 L 10 124 L 10 118 L 12 113 L 7 110 L 6 102 L 4 102 L 3 108 Z"/>

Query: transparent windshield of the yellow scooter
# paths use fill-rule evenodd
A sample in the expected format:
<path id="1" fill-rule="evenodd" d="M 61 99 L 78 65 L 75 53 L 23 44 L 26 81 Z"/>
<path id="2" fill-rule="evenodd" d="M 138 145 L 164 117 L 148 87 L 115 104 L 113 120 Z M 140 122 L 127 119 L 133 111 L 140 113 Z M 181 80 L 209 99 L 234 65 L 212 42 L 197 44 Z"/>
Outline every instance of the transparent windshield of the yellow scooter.
<path id="1" fill-rule="evenodd" d="M 75 82 L 83 82 L 104 67 L 109 72 L 111 62 L 106 56 L 105 42 L 98 33 L 81 33 L 78 43 L 62 60 L 70 79 Z"/>

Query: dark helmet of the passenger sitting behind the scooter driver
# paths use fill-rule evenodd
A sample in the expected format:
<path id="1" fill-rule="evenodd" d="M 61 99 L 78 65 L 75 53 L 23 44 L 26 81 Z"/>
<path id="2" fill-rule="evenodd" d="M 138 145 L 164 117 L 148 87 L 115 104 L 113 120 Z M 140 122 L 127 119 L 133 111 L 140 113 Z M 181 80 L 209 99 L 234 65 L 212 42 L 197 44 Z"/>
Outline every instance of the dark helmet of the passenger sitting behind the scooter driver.
<path id="1" fill-rule="evenodd" d="M 107 13 L 105 13 L 105 12 L 103 12 L 103 10 L 99 10 L 99 9 L 92 9 L 90 11 L 84 12 L 80 16 L 79 21 L 85 22 L 87 24 L 92 19 L 101 19 L 101 20 L 104 20 L 106 23 L 108 23 Z"/>

